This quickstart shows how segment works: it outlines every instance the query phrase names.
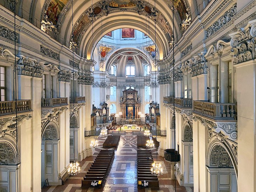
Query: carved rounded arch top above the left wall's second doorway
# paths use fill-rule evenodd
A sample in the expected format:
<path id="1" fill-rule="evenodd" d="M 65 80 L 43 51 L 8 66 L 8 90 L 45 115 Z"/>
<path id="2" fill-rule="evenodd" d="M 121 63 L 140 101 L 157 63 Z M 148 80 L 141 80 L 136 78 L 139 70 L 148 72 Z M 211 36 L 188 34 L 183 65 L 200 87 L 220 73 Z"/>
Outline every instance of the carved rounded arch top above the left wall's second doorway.
<path id="1" fill-rule="evenodd" d="M 42 140 L 59 140 L 60 132 L 58 126 L 54 122 L 49 122 L 42 130 Z"/>

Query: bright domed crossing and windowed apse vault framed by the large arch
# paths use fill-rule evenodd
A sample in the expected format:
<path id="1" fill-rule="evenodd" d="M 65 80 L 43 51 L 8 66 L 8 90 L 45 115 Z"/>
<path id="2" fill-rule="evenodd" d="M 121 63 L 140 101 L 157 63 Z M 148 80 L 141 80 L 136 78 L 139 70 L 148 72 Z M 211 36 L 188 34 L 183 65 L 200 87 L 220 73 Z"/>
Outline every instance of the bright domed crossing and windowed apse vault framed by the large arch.
<path id="1" fill-rule="evenodd" d="M 147 34 L 132 28 L 121 28 L 102 35 L 93 59 L 97 63 L 95 70 L 129 77 L 148 75 L 158 58 L 158 50 Z"/>

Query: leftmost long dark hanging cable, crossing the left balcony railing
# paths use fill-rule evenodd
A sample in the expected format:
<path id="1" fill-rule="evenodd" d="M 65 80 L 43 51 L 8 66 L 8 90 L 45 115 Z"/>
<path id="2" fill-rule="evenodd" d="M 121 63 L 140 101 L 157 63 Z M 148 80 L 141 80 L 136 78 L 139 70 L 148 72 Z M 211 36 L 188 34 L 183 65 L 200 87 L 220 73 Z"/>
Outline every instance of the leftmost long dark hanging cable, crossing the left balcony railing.
<path id="1" fill-rule="evenodd" d="M 15 119 L 16 119 L 16 179 L 17 192 L 19 192 L 18 167 L 18 114 L 17 114 L 17 62 L 16 62 L 16 2 L 14 2 L 14 73 L 15 73 Z"/>

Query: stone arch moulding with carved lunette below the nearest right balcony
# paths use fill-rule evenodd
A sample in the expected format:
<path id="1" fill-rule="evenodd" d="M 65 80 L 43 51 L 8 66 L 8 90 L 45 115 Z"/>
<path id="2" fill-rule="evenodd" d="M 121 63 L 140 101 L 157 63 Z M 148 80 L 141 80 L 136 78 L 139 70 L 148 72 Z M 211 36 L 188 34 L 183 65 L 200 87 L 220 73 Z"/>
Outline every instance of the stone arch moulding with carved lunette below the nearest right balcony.
<path id="1" fill-rule="evenodd" d="M 218 145 L 221 147 L 218 147 Z M 217 147 L 215 147 L 215 146 L 217 146 Z M 221 152 L 221 153 L 219 152 L 220 154 L 218 155 L 218 158 L 222 158 L 222 159 L 220 159 L 220 160 L 218 159 L 218 164 L 215 163 L 216 160 L 215 160 L 215 162 L 213 162 L 211 160 L 212 155 L 214 155 L 214 153 L 216 153 L 217 149 L 220 151 L 225 150 L 225 152 Z M 235 169 L 236 177 L 237 177 L 236 157 L 233 156 L 233 153 L 231 151 L 232 151 L 231 146 L 229 146 L 229 144 L 227 142 L 225 142 L 225 141 L 221 142 L 219 139 L 212 139 L 208 144 L 208 149 L 207 149 L 207 154 L 206 154 L 206 166 L 208 166 L 208 167 L 224 167 L 224 166 L 228 166 L 225 164 L 228 164 L 228 161 L 230 160 L 230 167 Z M 229 158 L 227 158 L 227 155 Z M 217 156 L 215 154 L 215 158 L 216 157 Z"/>

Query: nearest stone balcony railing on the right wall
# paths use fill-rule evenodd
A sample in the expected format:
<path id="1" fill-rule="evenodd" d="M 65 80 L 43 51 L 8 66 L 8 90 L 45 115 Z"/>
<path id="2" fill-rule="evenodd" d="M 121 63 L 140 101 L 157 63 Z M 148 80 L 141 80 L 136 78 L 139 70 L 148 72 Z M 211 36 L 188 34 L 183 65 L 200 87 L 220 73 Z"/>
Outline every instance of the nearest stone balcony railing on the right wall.
<path id="1" fill-rule="evenodd" d="M 207 101 L 193 101 L 193 111 L 197 114 L 214 118 L 236 119 L 237 104 L 235 103 L 210 103 Z"/>

